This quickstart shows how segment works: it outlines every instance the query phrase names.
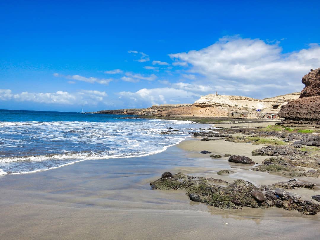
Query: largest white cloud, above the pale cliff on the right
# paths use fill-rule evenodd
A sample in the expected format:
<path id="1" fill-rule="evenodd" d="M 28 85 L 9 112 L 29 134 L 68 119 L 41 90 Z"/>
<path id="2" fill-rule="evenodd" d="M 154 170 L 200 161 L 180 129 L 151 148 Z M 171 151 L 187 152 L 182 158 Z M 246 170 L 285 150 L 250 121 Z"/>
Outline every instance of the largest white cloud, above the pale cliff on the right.
<path id="1" fill-rule="evenodd" d="M 188 71 L 205 76 L 206 84 L 214 89 L 263 98 L 299 92 L 303 85 L 295 83 L 310 68 L 320 66 L 320 46 L 310 44 L 307 49 L 284 54 L 278 43 L 234 36 L 223 37 L 198 51 L 170 54 L 170 57 L 177 61 L 172 65 L 189 64 Z"/>

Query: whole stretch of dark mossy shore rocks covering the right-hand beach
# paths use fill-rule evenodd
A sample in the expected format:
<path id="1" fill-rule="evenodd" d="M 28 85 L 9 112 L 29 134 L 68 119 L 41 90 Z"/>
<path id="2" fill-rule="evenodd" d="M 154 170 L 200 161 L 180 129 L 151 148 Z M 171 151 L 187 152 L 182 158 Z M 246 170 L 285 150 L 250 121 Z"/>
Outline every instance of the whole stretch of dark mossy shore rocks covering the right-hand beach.
<path id="1" fill-rule="evenodd" d="M 248 124 L 250 125 L 250 124 Z M 219 127 L 219 125 L 218 125 Z M 221 209 L 250 208 L 283 208 L 296 210 L 302 214 L 314 215 L 320 211 L 320 192 L 304 199 L 300 189 L 319 189 L 312 179 L 320 177 L 320 130 L 318 128 L 288 128 L 282 125 L 266 127 L 242 127 L 200 129 L 192 132 L 195 140 L 208 142 L 214 148 L 215 141 L 224 140 L 226 143 L 263 144 L 262 148 L 252 151 L 251 156 L 237 156 L 226 152 L 224 155 L 212 154 L 206 149 L 200 154 L 212 159 L 228 157 L 230 163 L 247 165 L 247 171 L 267 172 L 287 178 L 287 181 L 275 182 L 268 185 L 255 185 L 243 179 L 230 179 L 234 171 L 223 169 L 215 177 L 195 177 L 192 174 L 165 172 L 161 178 L 150 182 L 153 190 L 182 189 L 188 198 L 194 202 L 212 205 Z M 167 132 L 170 134 L 170 132 Z M 265 157 L 261 164 L 252 161 L 252 156 Z M 307 180 L 300 180 L 307 178 Z M 318 184 L 319 185 L 319 184 Z M 296 189 L 298 193 L 290 190 Z"/>

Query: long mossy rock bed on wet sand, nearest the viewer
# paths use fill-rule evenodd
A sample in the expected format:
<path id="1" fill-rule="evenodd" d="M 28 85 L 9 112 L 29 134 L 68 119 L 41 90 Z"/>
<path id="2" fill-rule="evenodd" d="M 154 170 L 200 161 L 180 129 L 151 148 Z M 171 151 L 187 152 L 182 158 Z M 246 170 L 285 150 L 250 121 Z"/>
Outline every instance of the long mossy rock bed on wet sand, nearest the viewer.
<path id="1" fill-rule="evenodd" d="M 284 186 L 283 183 L 277 183 Z M 288 186 L 291 183 L 287 183 Z M 160 178 L 150 183 L 158 189 L 184 189 L 190 200 L 206 203 L 221 209 L 239 207 L 269 208 L 281 207 L 287 210 L 296 209 L 303 214 L 316 214 L 320 205 L 308 200 L 300 200 L 300 196 L 287 192 L 283 188 L 267 191 L 267 187 L 257 187 L 245 180 L 233 183 L 214 178 L 196 178 L 183 173 L 173 174 L 172 178 Z M 272 187 L 278 186 L 274 185 Z M 307 185 L 306 185 L 307 186 Z M 311 186 L 311 185 L 310 185 Z"/>

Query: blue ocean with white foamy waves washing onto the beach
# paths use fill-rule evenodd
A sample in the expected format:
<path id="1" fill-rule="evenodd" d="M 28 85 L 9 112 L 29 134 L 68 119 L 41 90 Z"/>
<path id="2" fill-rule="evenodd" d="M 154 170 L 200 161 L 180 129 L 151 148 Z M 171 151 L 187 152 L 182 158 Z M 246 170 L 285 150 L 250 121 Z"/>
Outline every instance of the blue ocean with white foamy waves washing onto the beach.
<path id="1" fill-rule="evenodd" d="M 208 127 L 123 115 L 0 110 L 0 174 L 38 172 L 90 159 L 148 156 Z M 164 131 L 171 132 L 161 134 Z"/>

